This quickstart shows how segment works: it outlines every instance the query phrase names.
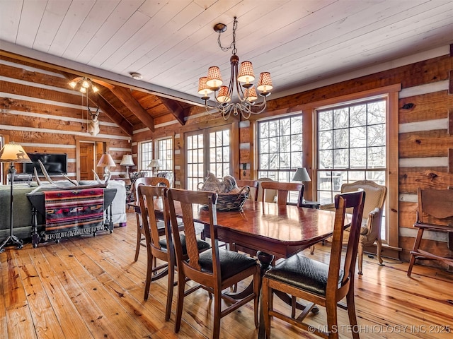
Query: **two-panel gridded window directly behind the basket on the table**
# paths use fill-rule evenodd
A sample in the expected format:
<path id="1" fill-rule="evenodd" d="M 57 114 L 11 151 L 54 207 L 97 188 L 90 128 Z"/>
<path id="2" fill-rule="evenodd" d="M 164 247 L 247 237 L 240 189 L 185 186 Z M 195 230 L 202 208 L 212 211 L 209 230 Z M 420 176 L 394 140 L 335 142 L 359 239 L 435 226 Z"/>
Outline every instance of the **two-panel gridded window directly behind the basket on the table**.
<path id="1" fill-rule="evenodd" d="M 224 126 L 185 133 L 187 189 L 196 190 L 205 182 L 208 170 L 219 179 L 230 174 L 230 133 Z"/>

